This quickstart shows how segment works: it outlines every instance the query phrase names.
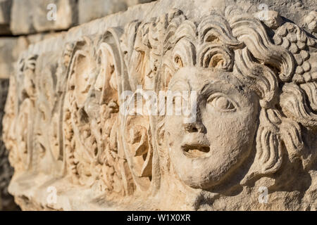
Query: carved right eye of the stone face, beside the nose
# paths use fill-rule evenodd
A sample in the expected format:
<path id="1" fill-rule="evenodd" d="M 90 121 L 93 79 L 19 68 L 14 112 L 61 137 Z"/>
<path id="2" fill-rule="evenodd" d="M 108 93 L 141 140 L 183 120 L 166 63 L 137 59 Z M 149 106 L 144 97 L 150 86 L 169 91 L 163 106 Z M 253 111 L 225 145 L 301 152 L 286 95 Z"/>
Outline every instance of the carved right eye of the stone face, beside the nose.
<path id="1" fill-rule="evenodd" d="M 237 109 L 236 104 L 223 94 L 213 94 L 209 96 L 207 104 L 222 112 L 232 112 Z"/>

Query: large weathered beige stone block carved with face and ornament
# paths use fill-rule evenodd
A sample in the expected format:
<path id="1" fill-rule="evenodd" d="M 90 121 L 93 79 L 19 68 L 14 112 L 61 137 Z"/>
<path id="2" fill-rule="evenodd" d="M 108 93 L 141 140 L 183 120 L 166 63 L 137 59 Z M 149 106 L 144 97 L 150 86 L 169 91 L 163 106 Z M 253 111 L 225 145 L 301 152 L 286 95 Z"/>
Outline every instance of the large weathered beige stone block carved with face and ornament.
<path id="1" fill-rule="evenodd" d="M 161 0 L 31 45 L 3 121 L 10 193 L 23 210 L 316 210 L 314 7 Z"/>

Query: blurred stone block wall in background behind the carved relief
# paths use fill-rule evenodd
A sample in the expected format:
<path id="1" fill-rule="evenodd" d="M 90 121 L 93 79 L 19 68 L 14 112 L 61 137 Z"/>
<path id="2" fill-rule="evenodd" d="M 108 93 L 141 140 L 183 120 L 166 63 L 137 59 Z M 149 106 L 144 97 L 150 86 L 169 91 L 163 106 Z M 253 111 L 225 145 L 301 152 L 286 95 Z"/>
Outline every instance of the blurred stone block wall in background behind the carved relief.
<path id="1" fill-rule="evenodd" d="M 154 0 L 0 0 L 0 131 L 8 89 L 18 56 L 30 44 L 71 27 L 126 11 Z M 0 135 L 0 210 L 18 210 L 7 187 L 13 174 Z"/>

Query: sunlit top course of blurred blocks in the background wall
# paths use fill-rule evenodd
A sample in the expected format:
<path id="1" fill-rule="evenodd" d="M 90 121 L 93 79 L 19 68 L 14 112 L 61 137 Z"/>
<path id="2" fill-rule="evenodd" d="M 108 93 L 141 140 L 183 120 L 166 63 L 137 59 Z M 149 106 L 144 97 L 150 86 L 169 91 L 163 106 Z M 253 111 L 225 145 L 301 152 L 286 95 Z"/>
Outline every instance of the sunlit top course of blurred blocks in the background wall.
<path id="1" fill-rule="evenodd" d="M 153 0 L 13 0 L 11 31 L 13 34 L 32 34 L 49 30 L 68 30 L 105 15 L 125 11 L 128 6 Z M 56 20 L 48 15 L 56 6 Z M 1 23 L 0 23 L 1 24 Z"/>

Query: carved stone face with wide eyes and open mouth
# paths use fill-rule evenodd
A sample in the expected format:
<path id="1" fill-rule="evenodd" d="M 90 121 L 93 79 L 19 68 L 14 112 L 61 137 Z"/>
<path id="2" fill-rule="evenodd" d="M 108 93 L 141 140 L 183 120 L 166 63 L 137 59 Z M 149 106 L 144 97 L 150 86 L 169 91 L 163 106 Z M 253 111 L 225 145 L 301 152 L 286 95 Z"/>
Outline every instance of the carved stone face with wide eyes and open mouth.
<path id="1" fill-rule="evenodd" d="M 197 119 L 166 116 L 171 163 L 193 188 L 220 184 L 249 156 L 258 127 L 259 98 L 232 72 L 182 68 L 170 91 L 197 91 Z"/>

